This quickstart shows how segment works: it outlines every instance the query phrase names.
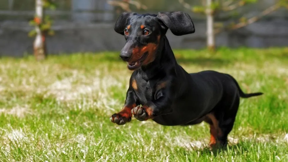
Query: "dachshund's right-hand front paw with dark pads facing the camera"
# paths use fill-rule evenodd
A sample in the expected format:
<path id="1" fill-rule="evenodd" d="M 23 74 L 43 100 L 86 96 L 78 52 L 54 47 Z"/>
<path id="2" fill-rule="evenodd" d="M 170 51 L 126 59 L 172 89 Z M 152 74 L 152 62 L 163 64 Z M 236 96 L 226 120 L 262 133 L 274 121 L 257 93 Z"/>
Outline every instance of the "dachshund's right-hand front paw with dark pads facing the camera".
<path id="1" fill-rule="evenodd" d="M 131 110 L 131 113 L 139 121 L 146 121 L 152 118 L 152 109 L 147 106 L 136 106 Z"/>

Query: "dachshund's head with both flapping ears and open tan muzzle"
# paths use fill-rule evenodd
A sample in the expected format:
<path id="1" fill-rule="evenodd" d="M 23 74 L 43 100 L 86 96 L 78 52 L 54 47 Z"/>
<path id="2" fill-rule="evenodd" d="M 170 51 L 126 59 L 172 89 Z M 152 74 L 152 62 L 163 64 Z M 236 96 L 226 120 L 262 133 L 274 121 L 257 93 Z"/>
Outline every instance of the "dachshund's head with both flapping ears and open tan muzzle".
<path id="1" fill-rule="evenodd" d="M 184 12 L 159 12 L 156 14 L 122 13 L 114 30 L 125 36 L 126 44 L 120 57 L 130 70 L 136 70 L 155 60 L 161 38 L 168 28 L 174 35 L 195 32 L 191 17 Z"/>

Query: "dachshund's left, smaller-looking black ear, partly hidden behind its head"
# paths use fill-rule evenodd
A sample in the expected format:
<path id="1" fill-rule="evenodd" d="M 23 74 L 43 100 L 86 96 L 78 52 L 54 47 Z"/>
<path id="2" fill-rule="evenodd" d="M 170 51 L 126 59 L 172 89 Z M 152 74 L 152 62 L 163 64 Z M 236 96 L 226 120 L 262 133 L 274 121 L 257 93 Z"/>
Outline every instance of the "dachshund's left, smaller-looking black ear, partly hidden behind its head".
<path id="1" fill-rule="evenodd" d="M 123 12 L 116 20 L 114 30 L 115 32 L 124 35 L 124 29 L 127 26 L 128 18 L 135 15 L 135 12 Z"/>

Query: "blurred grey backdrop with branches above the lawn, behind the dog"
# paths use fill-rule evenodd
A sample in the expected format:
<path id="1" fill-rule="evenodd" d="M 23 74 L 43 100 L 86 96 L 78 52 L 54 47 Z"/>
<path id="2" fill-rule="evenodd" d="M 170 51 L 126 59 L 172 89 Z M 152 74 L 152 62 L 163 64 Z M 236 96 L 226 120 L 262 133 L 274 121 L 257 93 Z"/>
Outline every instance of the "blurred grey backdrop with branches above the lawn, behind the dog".
<path id="1" fill-rule="evenodd" d="M 125 43 L 124 37 L 117 34 L 113 27 L 123 11 L 154 14 L 185 11 L 192 17 L 196 32 L 179 37 L 168 31 L 172 48 L 205 48 L 209 46 L 206 34 L 209 16 L 207 3 L 211 3 L 215 35 L 215 39 L 212 38 L 215 43 L 210 43 L 210 46 L 263 48 L 288 45 L 286 0 L 41 1 L 44 13 L 40 17 L 43 19 L 41 23 L 46 23 L 46 29 L 50 31 L 44 34 L 45 50 L 49 54 L 120 50 Z M 38 20 L 36 2 L 0 0 L 1 56 L 21 57 L 25 53 L 33 53 L 33 41 L 37 38 L 34 30 L 37 27 L 35 20 Z M 31 22 L 33 19 L 34 24 Z"/>

